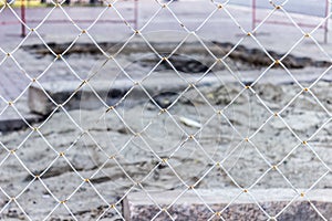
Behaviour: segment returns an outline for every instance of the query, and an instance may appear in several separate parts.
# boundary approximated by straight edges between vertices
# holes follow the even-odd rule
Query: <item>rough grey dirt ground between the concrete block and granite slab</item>
[[[128,190],[143,191],[142,187],[145,191],[184,190],[186,185],[197,189],[331,188],[331,173],[321,178],[332,164],[331,115],[326,113],[332,108],[330,82],[318,82],[305,92],[290,83],[262,81],[246,90],[239,83],[216,81],[186,93],[160,92],[154,102],[147,96],[133,101],[128,95],[110,112],[60,110],[40,123],[38,131],[1,136],[1,143],[15,150],[1,149],[1,160],[6,159],[1,188],[18,196],[17,202],[38,220],[52,211],[55,199],[68,200],[65,206],[79,220],[96,219],[105,210],[103,218],[120,219],[96,191],[121,211],[122,197]],[[168,159],[167,164],[162,159]],[[8,202],[2,194],[1,207]],[[58,206],[51,220],[73,219],[63,204]],[[6,207],[2,218],[27,219],[14,202]]]

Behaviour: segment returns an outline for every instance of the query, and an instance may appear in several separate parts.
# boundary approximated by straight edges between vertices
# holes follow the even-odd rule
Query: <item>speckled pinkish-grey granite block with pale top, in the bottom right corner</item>
[[[198,192],[200,198],[195,193]],[[322,220],[320,214],[311,206],[318,209],[318,211],[328,220],[332,218],[332,190],[331,189],[317,189],[311,190],[310,201],[305,197],[295,194],[292,189],[256,189],[249,192],[242,192],[239,189],[220,189],[220,190],[188,190],[181,197],[181,191],[152,191],[148,192],[149,197],[145,192],[132,192],[127,194],[123,202],[123,210],[125,220],[170,220],[166,211],[162,211],[156,215],[160,209],[151,200],[154,201],[160,208],[167,208],[170,203],[175,203],[167,208],[167,212],[175,220],[269,220],[268,213],[273,220],[282,221],[300,221],[300,220]],[[234,200],[239,193],[236,200]],[[257,203],[260,204],[261,209]],[[294,198],[295,200],[289,204]],[[201,200],[204,199],[204,200]],[[227,207],[229,203],[231,204]],[[210,211],[207,203],[212,211]],[[288,206],[289,204],[289,206]],[[287,207],[288,206],[288,207]],[[218,213],[225,209],[221,213]],[[287,207],[287,208],[286,208]],[[284,209],[286,208],[286,209]],[[284,209],[284,210],[283,210]],[[283,210],[283,211],[282,211]],[[278,213],[282,211],[279,215]],[[220,215],[220,217],[218,217]]]

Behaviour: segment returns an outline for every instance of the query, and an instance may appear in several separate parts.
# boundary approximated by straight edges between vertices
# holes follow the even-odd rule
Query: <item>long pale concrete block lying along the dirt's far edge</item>
[[[204,80],[200,84],[210,84],[209,78]],[[48,82],[42,86],[45,92],[58,104],[64,103],[73,92],[80,86],[81,82]],[[110,81],[98,81],[91,83],[98,96],[107,104],[114,105],[121,99],[133,86],[128,80],[118,80],[114,83]],[[164,78],[148,80],[144,82],[144,88],[151,93],[152,96],[163,92],[183,92],[188,84],[186,82],[174,81],[167,75]],[[128,96],[128,99],[139,99],[145,95],[141,86],[136,85]],[[48,115],[55,105],[49,99],[46,94],[38,85],[32,85],[29,88],[28,97],[29,108],[32,113],[40,115]],[[66,103],[66,109],[96,109],[102,106],[102,102],[94,95],[93,91],[85,85]]]

